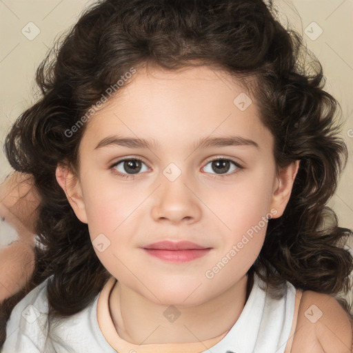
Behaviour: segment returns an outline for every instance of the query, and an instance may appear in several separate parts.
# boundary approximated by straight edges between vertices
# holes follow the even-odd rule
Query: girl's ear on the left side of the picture
[[[57,177],[57,182],[65,192],[77,218],[83,223],[88,223],[79,178],[69,168],[59,164],[55,171],[55,177]]]

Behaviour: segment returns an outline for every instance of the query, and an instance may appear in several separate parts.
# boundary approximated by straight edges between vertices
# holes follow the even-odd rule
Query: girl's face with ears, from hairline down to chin
[[[150,301],[197,305],[230,289],[285,208],[296,171],[276,175],[274,139],[244,93],[207,67],[141,69],[88,122],[68,199],[105,268]],[[160,241],[203,250],[152,250]]]

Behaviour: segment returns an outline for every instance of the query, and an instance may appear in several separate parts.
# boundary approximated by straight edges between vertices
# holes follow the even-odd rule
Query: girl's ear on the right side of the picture
[[[276,177],[270,208],[270,210],[276,210],[276,213],[274,213],[275,216],[272,216],[272,218],[279,218],[282,216],[285,206],[290,200],[294,179],[299,170],[299,162],[300,161],[297,160],[290,163],[287,167],[281,168],[279,175]]]

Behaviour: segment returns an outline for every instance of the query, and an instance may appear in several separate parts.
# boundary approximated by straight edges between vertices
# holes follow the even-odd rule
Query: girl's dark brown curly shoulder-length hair
[[[110,274],[95,254],[88,225],[74,214],[57,183],[57,165],[79,174],[79,143],[87,123],[67,131],[131,68],[179,70],[206,65],[247,82],[260,119],[274,136],[280,168],[300,160],[283,215],[268,221],[265,241],[248,274],[275,290],[295,288],[335,296],[350,290],[353,258],[327,201],[347,163],[334,117],[339,103],[301,35],[285,29],[261,0],[105,0],[94,3],[56,41],[39,65],[41,97],[12,125],[4,145],[14,170],[32,174],[41,203],[35,268],[21,291],[1,305],[0,345],[10,313],[48,279],[49,317],[87,307]],[[313,59],[314,58],[314,59]],[[126,83],[128,84],[128,82]],[[123,89],[123,88],[122,88]],[[112,96],[114,97],[114,96]],[[66,132],[66,133],[65,133]]]

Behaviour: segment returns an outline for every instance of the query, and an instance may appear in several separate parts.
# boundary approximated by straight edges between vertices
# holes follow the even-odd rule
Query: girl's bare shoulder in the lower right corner
[[[292,353],[350,353],[352,326],[333,296],[307,290],[299,305]]]

